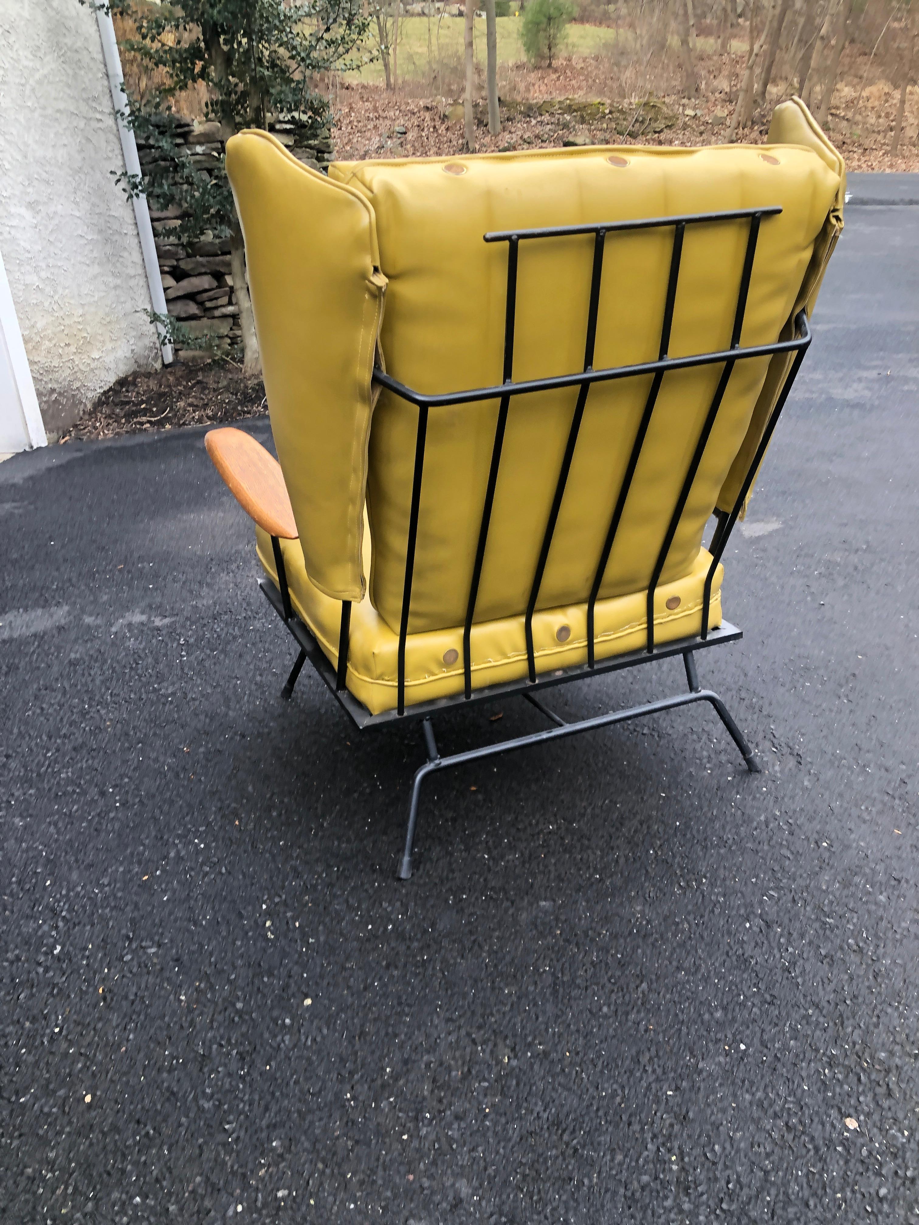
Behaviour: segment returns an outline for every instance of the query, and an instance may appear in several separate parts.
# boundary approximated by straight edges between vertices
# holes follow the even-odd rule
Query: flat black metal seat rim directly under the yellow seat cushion
[[[271,604],[281,620],[284,621],[284,612],[281,604],[281,592],[277,589],[274,583],[272,583],[270,578],[265,577],[259,579],[259,587],[261,588],[268,604]],[[354,697],[349,690],[336,692],[336,670],[309,627],[304,625],[297,612],[294,612],[290,620],[284,624],[290,631],[290,635],[297,644],[306,653],[306,658],[316,669],[320,680],[325,684],[332,697],[359,731],[364,731],[369,728],[384,726],[388,723],[406,723],[412,719],[424,719],[433,714],[440,714],[444,710],[448,710],[455,706],[494,702],[505,697],[513,697],[515,695],[524,691],[533,692],[534,690],[540,688],[554,688],[558,685],[567,685],[572,681],[587,680],[591,676],[598,676],[603,673],[618,673],[626,668],[637,668],[640,664],[648,664],[656,659],[669,659],[674,655],[681,655],[686,650],[702,650],[707,647],[718,647],[728,642],[739,642],[744,637],[743,630],[739,630],[729,621],[722,621],[720,626],[708,631],[708,637],[705,641],[702,638],[694,637],[680,638],[676,642],[660,643],[654,648],[653,655],[649,655],[643,647],[640,647],[637,650],[629,650],[624,652],[621,655],[610,655],[608,659],[602,659],[596,664],[593,670],[591,670],[587,664],[575,664],[571,668],[556,668],[550,673],[540,673],[537,677],[535,685],[531,685],[528,677],[523,676],[517,681],[502,681],[497,685],[488,685],[483,686],[483,688],[473,690],[472,698],[468,702],[464,693],[460,692],[453,693],[450,697],[433,698],[430,702],[417,702],[413,706],[406,707],[406,713],[399,715],[395,709],[381,710],[380,714],[371,714],[364,703]]]

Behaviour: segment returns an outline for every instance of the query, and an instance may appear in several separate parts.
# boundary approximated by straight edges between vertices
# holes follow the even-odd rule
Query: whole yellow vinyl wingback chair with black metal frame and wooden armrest
[[[766,146],[300,164],[227,146],[276,462],[208,451],[262,590],[358,728],[422,719],[433,771],[708,702],[740,638],[720,557],[842,230],[844,167],[799,99]],[[716,516],[708,548],[702,539]],[[539,690],[681,655],[689,690],[565,723]],[[520,693],[544,731],[441,756],[431,717]]]

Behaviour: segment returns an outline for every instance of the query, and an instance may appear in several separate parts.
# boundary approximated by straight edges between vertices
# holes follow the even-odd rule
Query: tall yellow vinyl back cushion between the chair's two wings
[[[373,203],[388,278],[381,344],[395,379],[424,393],[501,382],[507,244],[486,232],[781,206],[762,221],[741,344],[788,328],[841,175],[811,148],[584,148],[343,163],[336,181]],[[730,345],[749,221],[687,225],[670,356]],[[593,366],[659,355],[674,229],[605,240]],[[593,236],[520,244],[513,379],[583,369]],[[770,366],[738,361],[670,546],[662,582],[687,573],[744,442]],[[722,366],[668,372],[600,598],[647,588]],[[651,386],[594,385],[587,397],[537,608],[588,598]],[[511,401],[475,620],[527,606],[577,387]],[[461,625],[491,459],[497,401],[433,408],[424,456],[409,632]],[[368,486],[370,597],[399,624],[418,409],[376,404]]]

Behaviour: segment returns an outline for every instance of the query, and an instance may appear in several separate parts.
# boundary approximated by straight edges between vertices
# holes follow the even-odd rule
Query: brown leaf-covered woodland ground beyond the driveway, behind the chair
[[[515,20],[499,20],[501,135],[489,136],[484,103],[479,104],[478,152],[551,148],[565,141],[691,147],[725,140],[744,70],[743,43],[735,40],[730,54],[718,55],[713,39],[700,38],[700,88],[686,96],[665,75],[642,75],[633,53],[619,47],[615,32],[605,27],[571,27],[570,45],[577,54],[560,59],[551,69],[531,69],[520,58],[502,61],[502,51],[505,56],[513,54],[516,38],[516,33],[501,31],[502,21]],[[419,29],[412,28],[413,22]],[[330,83],[333,142],[341,160],[464,152],[462,72],[457,31],[452,28],[462,27],[462,18],[445,18],[440,54],[435,47],[430,59],[415,45],[426,20],[406,18],[406,24],[409,32],[399,49],[403,75],[398,91],[364,80],[368,70]],[[584,32],[596,37],[587,39]],[[584,54],[588,49],[593,54]],[[890,149],[899,91],[872,69],[870,56],[855,48],[845,51],[823,127],[850,170],[919,170],[919,87],[907,93],[899,149],[893,156]],[[766,105],[739,138],[761,143],[772,109],[793,92],[789,82],[777,77]],[[484,97],[484,86],[482,93]]]

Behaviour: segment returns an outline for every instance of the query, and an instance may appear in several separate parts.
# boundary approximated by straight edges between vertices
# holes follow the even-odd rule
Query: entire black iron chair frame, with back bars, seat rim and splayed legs
[[[415,823],[418,820],[418,804],[420,796],[420,788],[428,774],[435,771],[445,769],[452,766],[462,766],[472,761],[478,761],[485,757],[493,757],[497,753],[512,752],[517,748],[526,748],[532,745],[543,744],[549,740],[558,740],[561,737],[571,736],[581,731],[591,731],[603,726],[610,726],[615,723],[622,723],[626,719],[636,719],[648,714],[656,714],[662,710],[670,710],[675,707],[689,706],[696,702],[709,703],[719,718],[722,719],[724,726],[728,729],[732,739],[740,750],[747,768],[751,772],[757,772],[758,766],[754,756],[752,750],[747,745],[744,735],[738,728],[736,723],[728,712],[724,702],[720,697],[711,690],[703,690],[700,686],[698,676],[696,673],[695,664],[695,652],[701,648],[717,646],[725,642],[736,642],[743,637],[740,630],[735,626],[723,622],[717,628],[709,628],[709,611],[711,611],[711,595],[712,595],[712,582],[718,567],[718,564],[724,554],[724,549],[730,538],[730,533],[734,524],[740,516],[740,512],[746,501],[750,488],[756,478],[756,473],[760,469],[766,450],[772,439],[772,434],[776,429],[778,418],[784,408],[788,394],[792,390],[792,385],[798,374],[801,361],[804,360],[804,354],[810,345],[811,333],[807,326],[807,316],[805,311],[800,311],[793,323],[794,336],[788,341],[776,341],[772,344],[758,344],[747,345],[743,348],[740,345],[740,336],[744,326],[744,315],[746,311],[746,300],[750,289],[750,278],[754,267],[754,258],[756,255],[756,244],[760,234],[760,227],[765,218],[772,217],[779,213],[782,209],[777,206],[763,207],[763,208],[741,208],[732,209],[727,212],[716,213],[686,213],[678,217],[657,217],[642,221],[631,222],[610,222],[599,224],[587,224],[587,225],[565,225],[555,228],[544,229],[528,229],[528,230],[509,230],[504,233],[485,234],[484,240],[486,243],[506,243],[507,244],[507,296],[506,296],[506,310],[505,310],[505,337],[504,337],[504,371],[502,382],[496,386],[490,387],[477,387],[471,391],[461,392],[448,392],[446,394],[428,396],[414,391],[410,387],[404,386],[397,380],[392,379],[390,375],[385,374],[382,370],[374,371],[374,381],[385,387],[387,391],[398,396],[401,399],[409,404],[414,404],[418,408],[418,425],[415,432],[415,456],[414,456],[414,470],[412,479],[412,500],[409,510],[409,526],[408,526],[408,539],[406,548],[406,570],[404,570],[404,582],[403,582],[403,595],[402,595],[402,614],[399,620],[399,637],[398,637],[398,674],[397,674],[397,704],[395,710],[385,710],[380,714],[370,714],[366,707],[358,701],[346,687],[347,666],[348,666],[348,642],[349,642],[349,626],[350,626],[350,601],[344,600],[342,603],[342,616],[339,627],[339,641],[338,641],[338,665],[333,668],[325,652],[320,647],[319,642],[309,630],[309,627],[300,620],[299,616],[293,611],[290,605],[290,595],[287,584],[287,575],[284,571],[284,561],[281,551],[281,544],[277,538],[272,538],[272,548],[274,554],[274,564],[278,576],[278,586],[276,587],[270,579],[263,578],[260,582],[261,589],[271,605],[277,611],[278,616],[284,621],[288,630],[293,635],[294,639],[300,647],[300,653],[294,663],[287,684],[283,688],[283,696],[290,697],[293,693],[294,685],[300,674],[304,663],[309,659],[314,665],[320,677],[328,686],[331,692],[335,695],[336,699],[350,718],[352,723],[359,730],[371,726],[381,726],[393,722],[404,722],[407,719],[420,719],[422,728],[424,731],[425,745],[428,748],[428,761],[419,767],[415,772],[414,780],[412,784],[412,800],[409,805],[409,818],[408,829],[406,835],[406,846],[399,864],[398,876],[402,880],[408,880],[412,875],[412,850],[414,843]],[[676,292],[679,284],[680,273],[680,261],[683,256],[683,245],[686,228],[690,225],[712,225],[723,224],[727,222],[746,221],[747,228],[747,241],[746,251],[744,257],[744,265],[740,274],[740,285],[738,290],[736,307],[734,312],[734,326],[732,330],[730,345],[727,349],[713,350],[709,353],[694,354],[691,356],[670,358],[668,355],[668,349],[670,344],[670,330],[673,326],[673,315],[676,303]],[[593,355],[594,344],[597,338],[597,316],[599,311],[599,296],[600,296],[600,281],[603,276],[603,260],[605,251],[605,240],[610,234],[627,233],[633,230],[643,229],[662,229],[673,228],[673,247],[670,255],[670,268],[667,284],[667,295],[664,300],[663,321],[660,328],[660,344],[658,349],[658,358],[654,361],[643,361],[629,366],[613,366],[600,370],[593,369]],[[591,292],[589,292],[589,304],[588,304],[588,316],[587,316],[587,336],[584,342],[584,360],[583,370],[578,374],[570,375],[556,375],[548,379],[531,379],[520,382],[513,381],[513,332],[515,332],[515,317],[517,306],[517,263],[520,254],[520,244],[523,241],[533,239],[550,239],[550,238],[567,238],[572,235],[593,235],[593,266],[591,274]],[[702,461],[702,456],[711,436],[712,429],[714,426],[716,418],[718,415],[718,409],[720,408],[724,393],[728,387],[734,366],[740,360],[746,360],[750,358],[765,358],[772,356],[774,354],[787,353],[790,355],[790,368],[787,371],[785,381],[782,386],[782,391],[778,396],[776,407],[770,417],[770,420],[763,431],[762,439],[752,456],[750,467],[747,469],[746,477],[741,483],[740,490],[738,492],[736,500],[730,512],[716,511],[717,526],[712,541],[709,544],[709,551],[712,555],[712,562],[708,568],[705,588],[703,588],[703,601],[702,601],[702,626],[701,632],[697,637],[684,638],[678,642],[668,642],[663,644],[656,644],[654,642],[654,592],[657,589],[660,575],[663,572],[664,565],[667,562],[667,556],[673,544],[674,535],[676,533],[678,524],[683,516],[686,506],[686,501],[692,488],[692,483],[698,472],[698,466]],[[645,437],[651,424],[651,418],[654,412],[654,405],[658,401],[660,385],[663,382],[664,375],[671,370],[687,370],[696,366],[703,365],[722,365],[723,370],[718,380],[718,385],[709,404],[708,412],[706,414],[705,421],[702,424],[700,436],[690,461],[689,469],[683,481],[680,494],[676,499],[670,521],[668,523],[667,532],[658,550],[658,555],[652,571],[651,582],[648,584],[647,593],[647,642],[645,648],[641,650],[633,650],[627,654],[616,655],[609,659],[597,660],[596,658],[596,635],[594,635],[594,609],[597,604],[597,598],[599,595],[599,589],[603,582],[603,576],[607,570],[607,564],[609,561],[610,552],[613,550],[613,544],[616,538],[616,532],[622,517],[622,511],[625,508],[626,499],[631,489],[632,478],[641,456],[641,450],[645,442]],[[635,379],[651,375],[651,387],[645,403],[645,409],[638,423],[638,428],[632,442],[632,448],[630,452],[629,462],[626,464],[625,475],[622,484],[620,486],[615,506],[613,508],[609,529],[607,532],[603,549],[598,559],[597,570],[594,572],[593,583],[591,587],[591,593],[587,603],[587,663],[578,664],[572,668],[556,669],[551,673],[544,673],[538,675],[535,670],[535,652],[533,647],[533,614],[537,608],[539,599],[539,589],[543,581],[543,575],[545,571],[545,565],[549,557],[549,550],[551,548],[553,534],[555,532],[555,526],[558,523],[559,512],[561,508],[562,499],[565,496],[565,489],[567,484],[569,473],[571,469],[571,463],[575,454],[575,447],[577,445],[578,431],[581,429],[581,421],[583,419],[584,409],[587,405],[587,397],[591,387],[597,382],[609,382],[619,379]],[[471,633],[475,615],[475,603],[479,590],[479,581],[482,578],[482,567],[485,559],[485,549],[488,544],[489,526],[491,522],[491,510],[494,505],[495,489],[497,485],[497,474],[501,462],[501,451],[504,446],[505,429],[507,424],[507,414],[510,410],[511,399],[517,396],[527,396],[538,391],[546,391],[553,388],[564,387],[577,387],[577,401],[575,403],[575,409],[571,418],[571,425],[569,428],[569,437],[565,446],[565,452],[561,462],[561,468],[556,479],[555,494],[551,502],[551,508],[549,511],[549,517],[543,533],[543,541],[539,550],[539,557],[537,561],[537,568],[533,577],[533,583],[531,587],[529,599],[527,601],[524,630],[526,630],[526,643],[527,643],[527,677],[520,681],[511,681],[501,685],[490,685],[485,688],[473,690],[472,687],[472,657],[471,657]],[[414,703],[406,707],[406,641],[408,638],[408,621],[409,621],[409,608],[412,601],[412,581],[414,575],[414,559],[415,559],[415,545],[418,540],[418,519],[420,514],[422,503],[422,481],[424,475],[424,452],[425,441],[428,432],[428,417],[434,409],[455,407],[461,404],[480,403],[483,401],[499,402],[497,419],[495,424],[495,436],[491,448],[491,462],[489,467],[488,484],[485,489],[485,497],[482,510],[482,519],[479,524],[478,544],[475,549],[475,559],[473,564],[472,583],[469,589],[469,599],[467,603],[466,619],[463,625],[463,676],[464,686],[463,692],[455,695],[452,697],[437,698],[435,701]],[[685,693],[679,693],[674,697],[663,698],[657,702],[647,702],[643,706],[632,707],[626,710],[613,710],[607,714],[597,715],[594,718],[581,719],[575,723],[566,723],[558,714],[548,709],[539,698],[535,697],[535,690],[548,688],[550,686],[562,685],[570,681],[582,680],[587,676],[594,676],[602,673],[619,671],[624,668],[633,668],[642,663],[648,663],[657,659],[667,659],[676,655],[681,655],[685,669],[686,680],[689,685],[689,691]],[[483,745],[478,748],[469,750],[468,752],[453,753],[447,757],[442,757],[437,748],[436,741],[434,739],[434,729],[431,726],[431,718],[451,707],[458,704],[466,704],[469,702],[485,702],[494,701],[499,697],[505,697],[510,695],[520,695],[526,698],[540,710],[554,726],[544,730],[537,731],[526,736],[517,736],[512,740],[504,740],[497,744]]]

